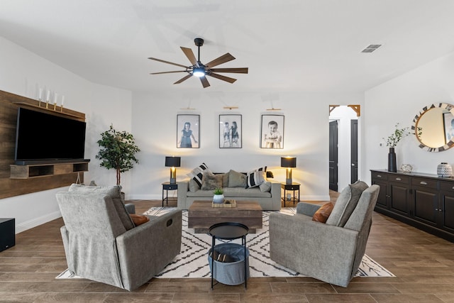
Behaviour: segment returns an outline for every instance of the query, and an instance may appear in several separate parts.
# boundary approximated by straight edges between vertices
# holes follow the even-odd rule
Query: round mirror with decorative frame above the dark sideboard
[[[419,147],[430,152],[448,150],[454,145],[454,107],[447,103],[426,106],[413,119],[411,130]]]

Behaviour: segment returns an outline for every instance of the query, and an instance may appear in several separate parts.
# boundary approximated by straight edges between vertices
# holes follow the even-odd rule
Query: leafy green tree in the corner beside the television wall
[[[109,131],[101,133],[101,140],[98,141],[99,150],[96,159],[101,160],[100,165],[108,170],[116,170],[116,184],[120,185],[121,172],[127,172],[138,163],[135,153],[140,149],[135,145],[134,136],[126,131],[116,131],[111,125]]]

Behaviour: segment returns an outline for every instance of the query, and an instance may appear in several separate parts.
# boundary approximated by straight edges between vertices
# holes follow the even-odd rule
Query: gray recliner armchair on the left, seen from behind
[[[182,211],[135,226],[121,187],[70,187],[58,192],[68,269],[79,277],[134,290],[157,275],[181,250]]]

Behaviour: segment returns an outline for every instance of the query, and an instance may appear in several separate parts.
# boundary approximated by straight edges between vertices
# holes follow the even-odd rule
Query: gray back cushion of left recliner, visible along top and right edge
[[[100,186],[86,186],[81,184],[71,184],[68,192],[87,192],[87,193],[99,193],[107,194],[112,198],[116,212],[120,217],[121,223],[126,228],[130,230],[134,228],[133,221],[128,214],[128,211],[125,208],[125,203],[123,197],[121,196],[121,186],[112,186],[112,187],[100,187]]]

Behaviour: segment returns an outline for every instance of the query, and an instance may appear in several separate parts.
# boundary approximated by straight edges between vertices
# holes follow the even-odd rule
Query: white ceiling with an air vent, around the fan
[[[249,67],[208,77],[224,92],[363,92],[454,51],[453,0],[0,0],[0,35],[92,82],[132,91],[202,90],[179,46],[201,62]],[[382,44],[374,53],[361,53]]]

